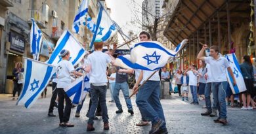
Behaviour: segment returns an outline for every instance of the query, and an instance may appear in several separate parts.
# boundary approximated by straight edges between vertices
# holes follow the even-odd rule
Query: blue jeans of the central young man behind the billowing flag
[[[159,119],[165,122],[163,108],[160,99],[160,81],[148,80],[137,93],[136,103],[143,116],[148,118],[152,124],[156,124]],[[163,125],[165,128],[165,123]]]

